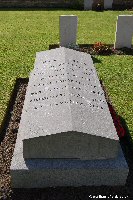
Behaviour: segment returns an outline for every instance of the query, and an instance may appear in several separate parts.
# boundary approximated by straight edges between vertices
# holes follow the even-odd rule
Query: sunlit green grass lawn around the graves
[[[113,44],[118,15],[133,11],[0,11],[0,124],[18,77],[28,77],[36,52],[59,43],[59,16],[78,16],[78,44]],[[133,138],[133,57],[96,56],[99,78]]]

